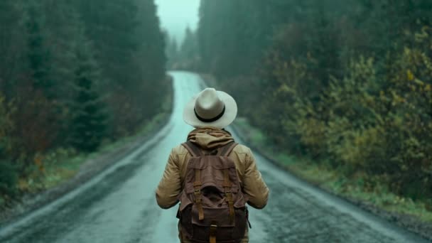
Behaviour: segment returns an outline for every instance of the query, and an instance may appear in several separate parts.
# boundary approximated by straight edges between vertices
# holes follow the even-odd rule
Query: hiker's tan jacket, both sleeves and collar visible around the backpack
[[[227,131],[213,128],[195,129],[188,135],[188,140],[208,151],[234,141]],[[163,177],[156,189],[156,200],[160,207],[168,209],[178,203],[177,197],[183,190],[190,157],[188,150],[181,145],[171,151]],[[229,154],[229,158],[235,163],[243,193],[249,198],[247,203],[257,209],[265,207],[269,198],[269,188],[261,178],[252,151],[247,146],[239,144]]]

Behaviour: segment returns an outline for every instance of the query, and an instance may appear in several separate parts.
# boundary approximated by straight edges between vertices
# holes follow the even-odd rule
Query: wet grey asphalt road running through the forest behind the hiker
[[[175,104],[165,128],[82,187],[0,229],[0,242],[178,242],[176,208],[158,208],[154,190],[171,148],[192,129],[183,123],[183,105],[202,81],[171,74]],[[251,242],[427,242],[255,155],[271,196],[264,210],[251,210]]]

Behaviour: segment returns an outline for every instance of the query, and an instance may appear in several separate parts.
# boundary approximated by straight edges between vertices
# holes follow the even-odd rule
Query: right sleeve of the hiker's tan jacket
[[[252,151],[249,150],[249,153],[247,153],[245,162],[243,191],[249,197],[247,203],[254,208],[262,209],[269,199],[269,188],[258,171]]]

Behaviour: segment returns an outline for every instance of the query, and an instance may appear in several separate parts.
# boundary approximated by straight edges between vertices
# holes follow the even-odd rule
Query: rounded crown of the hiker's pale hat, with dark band
[[[195,114],[202,119],[214,119],[224,110],[225,103],[213,88],[202,90],[195,100]]]

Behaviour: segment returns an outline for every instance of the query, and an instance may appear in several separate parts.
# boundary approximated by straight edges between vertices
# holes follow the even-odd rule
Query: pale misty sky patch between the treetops
[[[155,3],[162,28],[178,41],[183,40],[186,26],[197,28],[200,0],[156,0]]]

